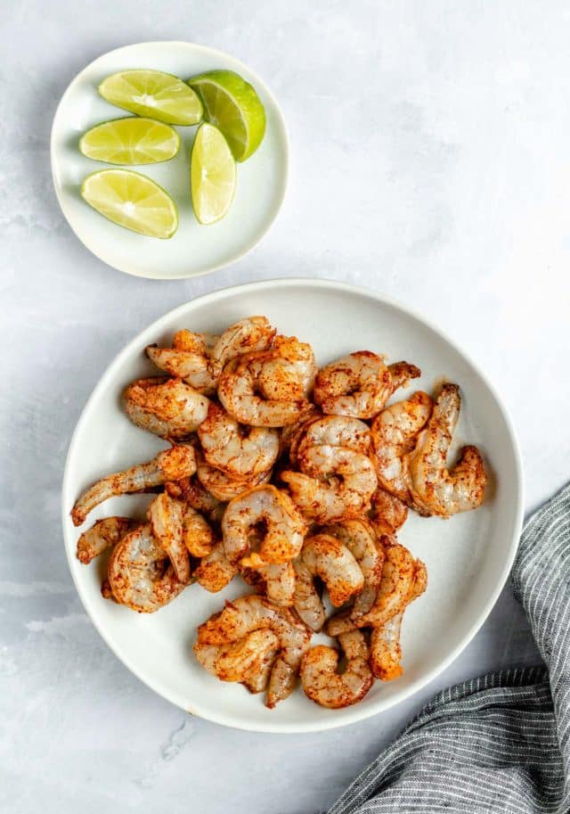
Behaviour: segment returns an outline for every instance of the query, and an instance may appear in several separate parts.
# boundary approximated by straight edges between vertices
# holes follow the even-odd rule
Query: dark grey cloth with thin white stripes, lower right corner
[[[329,814],[570,811],[570,485],[527,522],[512,582],[546,667],[436,695]]]

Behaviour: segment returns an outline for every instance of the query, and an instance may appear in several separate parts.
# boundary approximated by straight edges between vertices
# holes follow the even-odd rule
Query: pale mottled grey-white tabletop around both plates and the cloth
[[[226,730],[110,653],[69,578],[70,433],[110,359],[201,292],[281,275],[368,285],[434,318],[509,405],[530,511],[566,481],[570,11],[564,2],[3,4],[0,83],[0,808],[28,814],[323,810],[436,690],[536,653],[505,588],[460,658],[409,703],[311,736]],[[281,100],[291,185],[224,272],[138,280],[90,256],[49,169],[55,105],[112,47],[185,38],[235,54]]]

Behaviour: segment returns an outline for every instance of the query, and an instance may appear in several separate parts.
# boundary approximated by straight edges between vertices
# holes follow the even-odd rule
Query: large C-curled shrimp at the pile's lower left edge
[[[108,577],[117,602],[138,613],[158,611],[185,588],[149,523],[130,531],[113,548]]]

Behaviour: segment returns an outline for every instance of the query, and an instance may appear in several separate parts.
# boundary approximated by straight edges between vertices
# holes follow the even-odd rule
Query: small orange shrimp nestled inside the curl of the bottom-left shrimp
[[[252,630],[248,636],[229,645],[205,645],[197,641],[194,654],[208,672],[221,681],[239,681],[250,692],[265,690],[273,662],[279,652],[279,638],[270,629]]]

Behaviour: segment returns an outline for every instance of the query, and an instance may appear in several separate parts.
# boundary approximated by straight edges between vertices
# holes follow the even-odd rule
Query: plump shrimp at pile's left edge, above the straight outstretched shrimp
[[[184,440],[208,415],[206,396],[180,379],[138,379],[126,388],[124,398],[131,421],[161,438]]]

